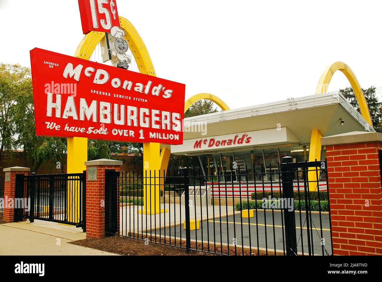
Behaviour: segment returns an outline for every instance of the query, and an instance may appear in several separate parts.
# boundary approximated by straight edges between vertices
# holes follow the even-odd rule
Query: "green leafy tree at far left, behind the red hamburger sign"
[[[42,162],[62,162],[65,138],[36,136],[31,70],[20,65],[0,64],[0,154],[22,149],[25,166],[37,172]]]

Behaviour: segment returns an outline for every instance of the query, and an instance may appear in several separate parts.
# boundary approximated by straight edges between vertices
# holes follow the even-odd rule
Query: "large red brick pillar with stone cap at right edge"
[[[326,145],[335,255],[382,255],[382,133],[350,132]]]

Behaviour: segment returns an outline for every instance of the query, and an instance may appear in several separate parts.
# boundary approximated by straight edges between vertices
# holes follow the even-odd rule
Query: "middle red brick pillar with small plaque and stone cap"
[[[120,160],[91,160],[86,165],[86,238],[105,237],[105,170],[120,171]],[[119,230],[119,191],[118,230]]]

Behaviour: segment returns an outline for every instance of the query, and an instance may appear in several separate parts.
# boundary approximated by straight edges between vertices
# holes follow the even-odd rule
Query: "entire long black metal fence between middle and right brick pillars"
[[[118,173],[106,177],[120,201],[109,234],[227,255],[333,253],[325,161]]]

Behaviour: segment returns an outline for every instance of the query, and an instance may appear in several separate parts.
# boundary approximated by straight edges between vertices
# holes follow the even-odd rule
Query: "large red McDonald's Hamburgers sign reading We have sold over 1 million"
[[[185,84],[35,48],[36,134],[182,144]]]

